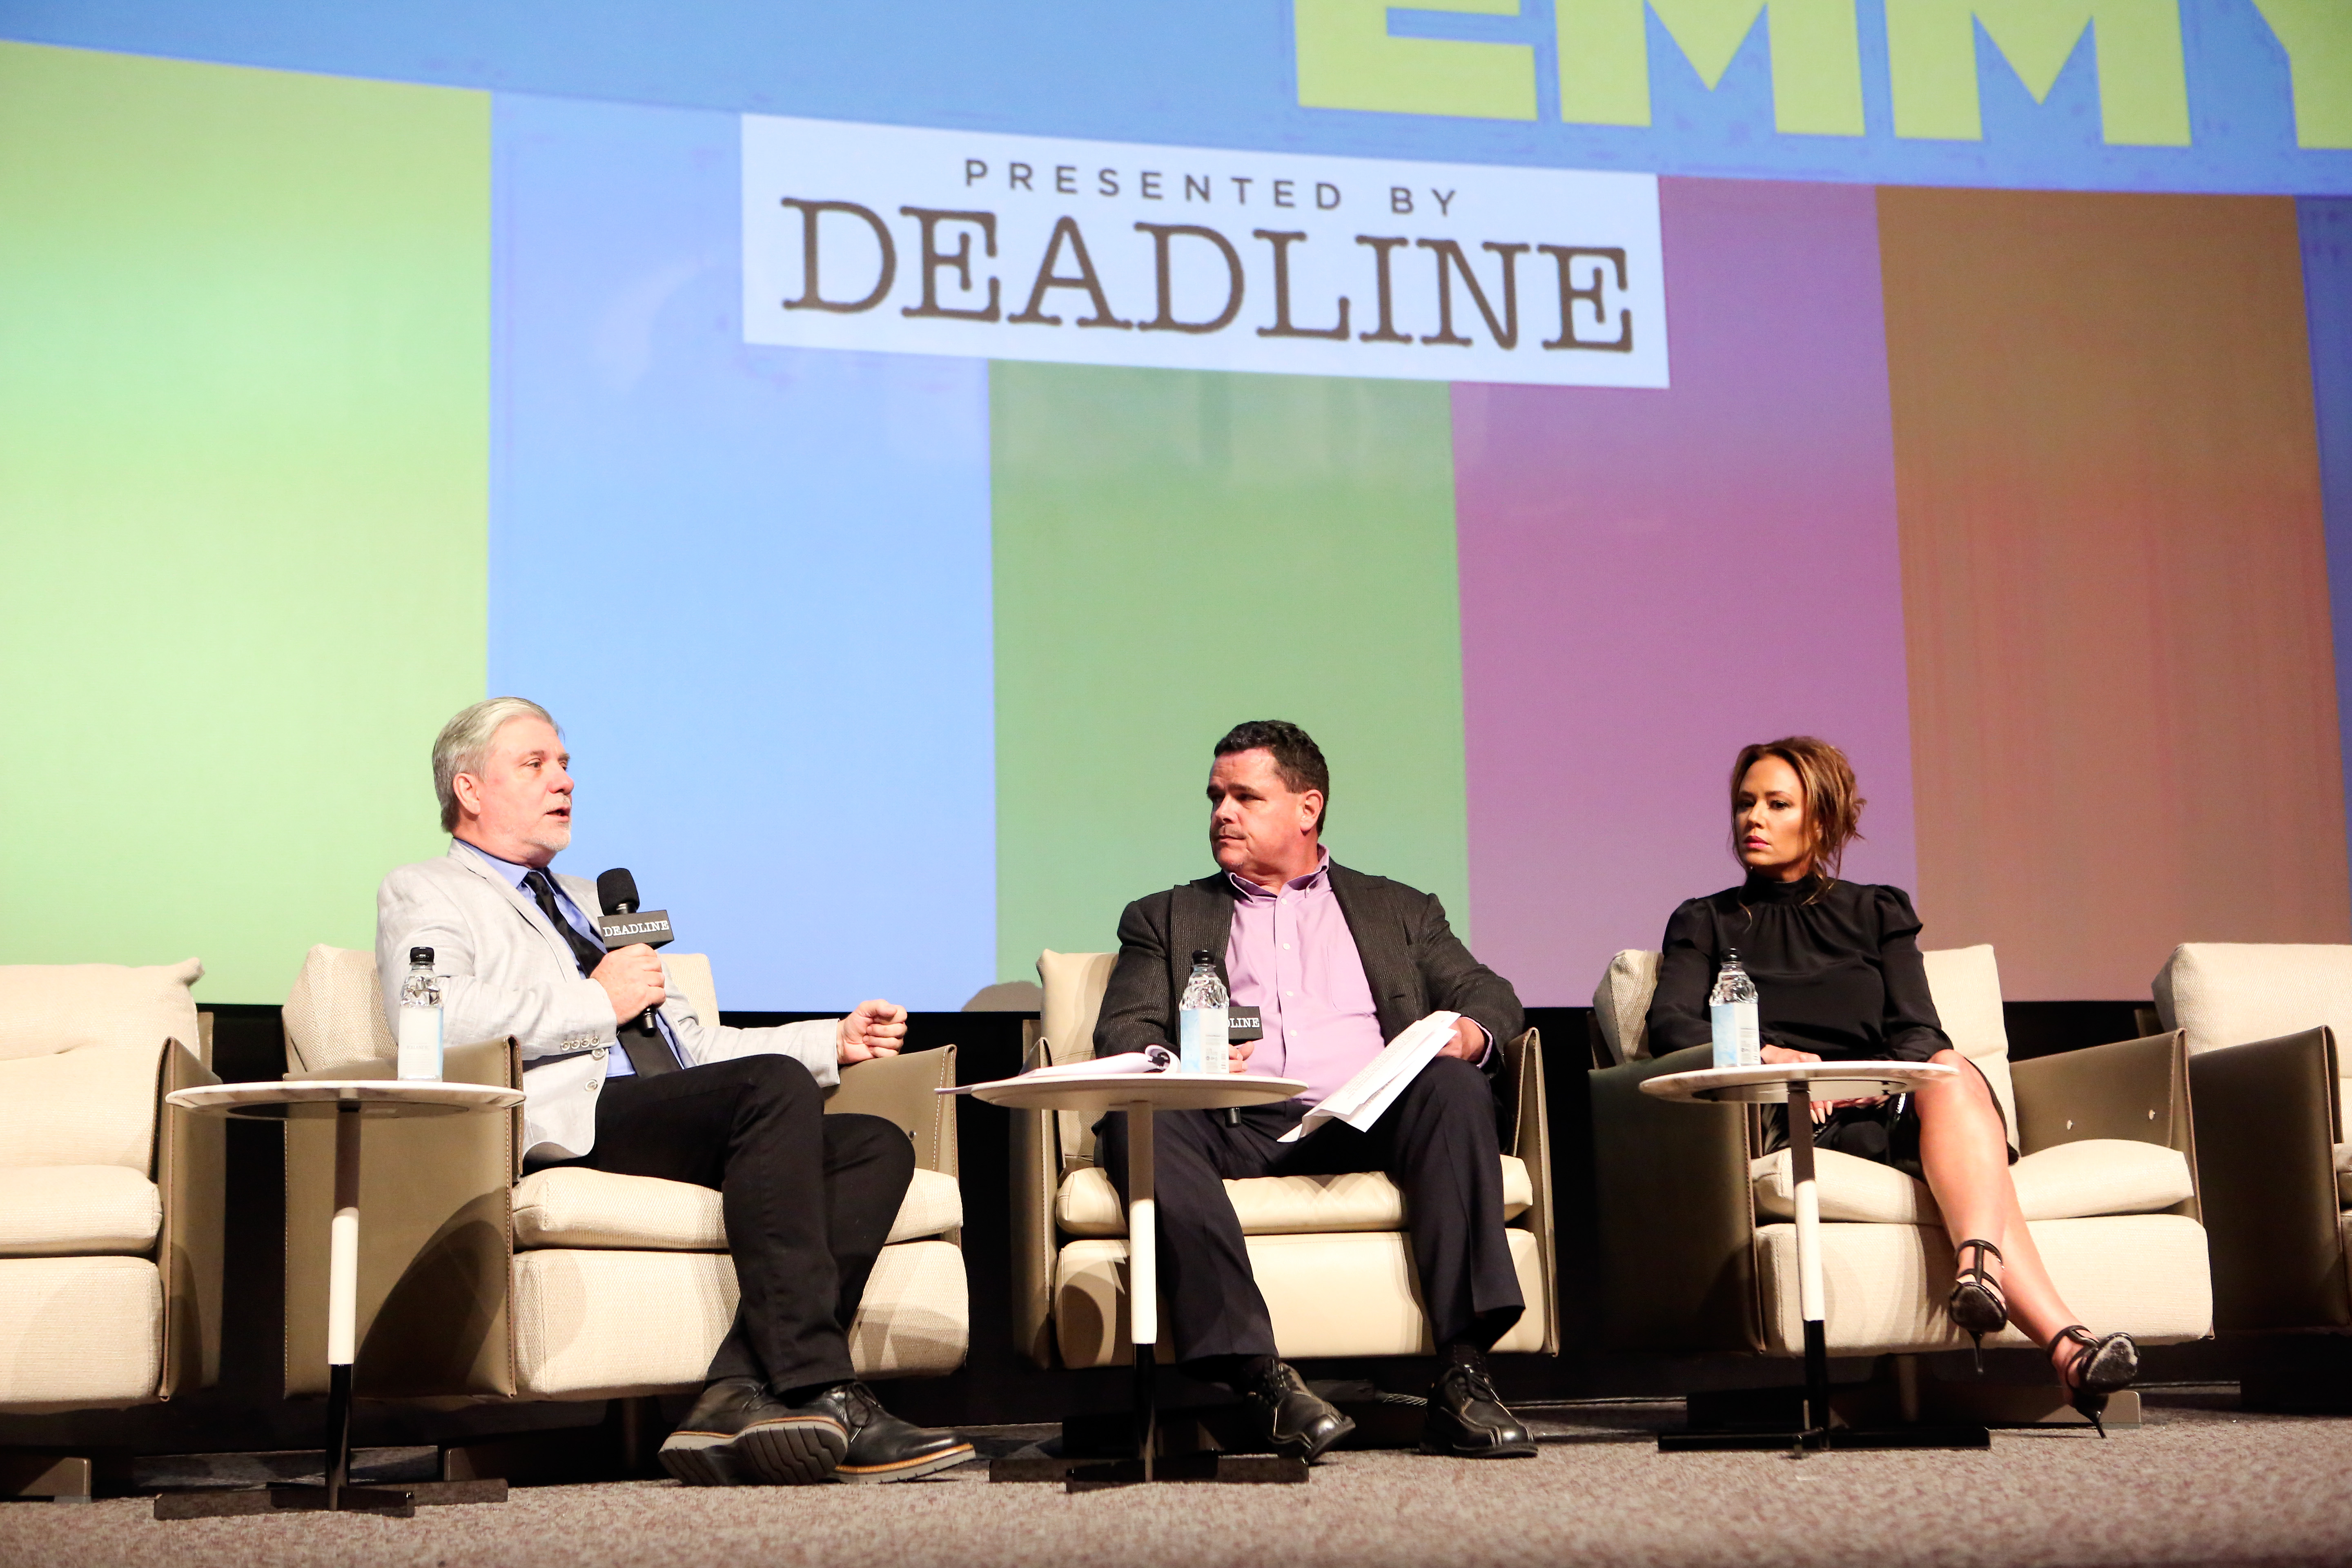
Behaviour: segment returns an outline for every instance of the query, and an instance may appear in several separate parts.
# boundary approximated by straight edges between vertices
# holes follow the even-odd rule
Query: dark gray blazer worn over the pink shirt
[[[1381,1039],[1395,1039],[1435,1011],[1475,1018],[1498,1046],[1519,1034],[1519,994],[1470,957],[1435,896],[1352,872],[1338,860],[1331,863],[1331,893],[1364,959]],[[1120,914],[1120,961],[1094,1025],[1096,1056],[1174,1044],[1176,999],[1192,976],[1197,950],[1216,954],[1218,978],[1232,985],[1225,938],[1232,936],[1235,898],[1232,882],[1218,872],[1127,905]],[[1486,1067],[1501,1060],[1503,1053],[1494,1051]]]

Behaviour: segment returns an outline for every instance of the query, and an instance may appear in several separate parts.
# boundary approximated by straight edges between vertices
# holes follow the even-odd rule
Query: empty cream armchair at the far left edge
[[[202,973],[0,969],[0,1410],[219,1378],[226,1126],[162,1103],[221,1081]]]

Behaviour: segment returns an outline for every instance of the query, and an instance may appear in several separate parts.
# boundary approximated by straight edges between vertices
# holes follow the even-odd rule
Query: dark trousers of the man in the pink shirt
[[[1404,1190],[1421,1302],[1439,1345],[1486,1349],[1519,1321],[1526,1298],[1503,1239],[1503,1171],[1494,1088],[1465,1060],[1439,1056],[1421,1070],[1369,1133],[1327,1121],[1298,1143],[1296,1100],[1225,1112],[1152,1117],[1152,1190],[1160,1201],[1160,1293],[1178,1361],[1272,1356],[1275,1324],[1249,1274],[1228,1180],[1385,1171]],[[1127,1117],[1096,1126],[1096,1164],[1127,1197]]]

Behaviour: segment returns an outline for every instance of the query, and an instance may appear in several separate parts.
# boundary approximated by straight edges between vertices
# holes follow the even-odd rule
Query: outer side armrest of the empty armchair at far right
[[[2213,1326],[2352,1324],[2336,1194],[2336,1032],[2190,1058]]]

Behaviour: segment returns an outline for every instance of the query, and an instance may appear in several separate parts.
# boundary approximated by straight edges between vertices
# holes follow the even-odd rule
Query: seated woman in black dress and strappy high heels
[[[1926,990],[1919,917],[1893,886],[1837,879],[1863,799],[1846,755],[1792,736],[1750,745],[1731,769],[1731,851],[1740,886],[1691,898],[1665,924],[1651,1056],[1715,1039],[1708,994],[1724,957],[1757,985],[1766,1063],[1898,1060],[1959,1067],[1896,1100],[1816,1100],[1813,1143],[1924,1180],[1959,1262],[1952,1321],[1976,1340],[2011,1319],[2049,1347],[2074,1408],[2098,1422],[2140,1366],[2131,1335],[2093,1335],[2058,1298],[2018,1208],[2018,1157],[1992,1086],[1952,1048]],[[1773,1112],[1773,1147],[1788,1143]],[[2105,1434],[2105,1427],[2100,1427]]]

